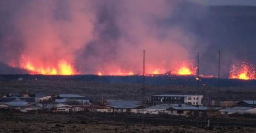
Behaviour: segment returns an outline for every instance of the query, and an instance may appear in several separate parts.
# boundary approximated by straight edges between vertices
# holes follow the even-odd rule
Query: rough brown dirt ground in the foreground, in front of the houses
[[[255,133],[240,126],[156,126],[112,121],[104,114],[0,112],[0,133]]]

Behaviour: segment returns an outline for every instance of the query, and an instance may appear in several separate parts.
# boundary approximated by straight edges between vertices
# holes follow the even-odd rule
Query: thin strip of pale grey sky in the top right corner
[[[256,6],[256,0],[194,0],[206,5],[249,5]]]

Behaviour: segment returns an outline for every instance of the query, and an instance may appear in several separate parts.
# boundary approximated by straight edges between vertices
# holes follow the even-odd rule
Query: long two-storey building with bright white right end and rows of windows
[[[153,95],[151,102],[153,103],[170,103],[170,104],[190,104],[202,105],[203,95]]]

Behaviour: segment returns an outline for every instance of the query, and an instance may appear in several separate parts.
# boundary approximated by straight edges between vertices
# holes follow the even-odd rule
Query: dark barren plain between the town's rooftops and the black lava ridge
[[[122,83],[99,83],[78,80],[7,80],[0,81],[0,94],[4,92],[29,91],[31,93],[73,93],[80,94],[90,99],[123,99],[140,100],[142,85]],[[217,88],[200,87],[200,93],[204,97],[215,99]],[[250,87],[221,88],[222,100],[251,100],[256,99],[256,90]],[[196,94],[197,88],[190,86],[146,85],[146,97],[156,94]]]

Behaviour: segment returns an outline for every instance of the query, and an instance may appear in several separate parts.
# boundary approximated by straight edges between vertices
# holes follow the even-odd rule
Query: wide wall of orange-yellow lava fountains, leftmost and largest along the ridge
[[[58,62],[57,67],[52,66],[37,66],[30,62],[22,65],[22,68],[30,71],[30,74],[43,74],[43,75],[75,75],[79,74],[75,68],[65,60]]]

